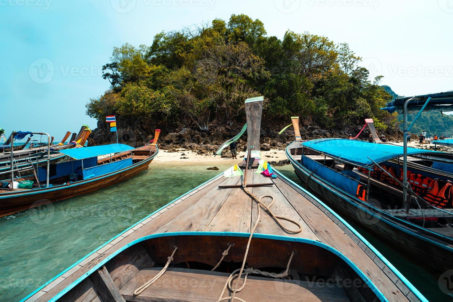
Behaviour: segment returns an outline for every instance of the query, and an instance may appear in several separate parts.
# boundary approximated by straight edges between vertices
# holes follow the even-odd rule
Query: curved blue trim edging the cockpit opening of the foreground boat
[[[115,251],[115,253],[109,255],[107,258],[103,259],[100,263],[96,264],[92,269],[90,269],[87,273],[85,273],[83,276],[72,282],[70,285],[68,285],[63,291],[59,292],[57,295],[52,297],[52,299],[48,300],[49,302],[57,301],[60,297],[62,297],[66,292],[74,288],[77,284],[82,282],[85,278],[87,278],[90,274],[95,272],[98,268],[100,268],[102,265],[106,264],[106,262],[112,258],[114,258],[117,254],[120,254],[122,251],[125,249],[131,247],[134,244],[137,244],[141,241],[144,240],[149,240],[153,239],[156,237],[169,237],[169,236],[193,236],[193,235],[198,235],[198,236],[234,236],[234,237],[249,237],[250,233],[235,233],[235,232],[169,232],[169,233],[158,233],[158,234],[153,234],[149,236],[145,236],[142,238],[139,238],[137,240],[132,241],[129,244],[126,244],[123,246],[121,249],[118,249]],[[323,244],[322,242],[316,241],[316,240],[309,240],[306,238],[292,238],[292,237],[285,237],[285,236],[278,236],[278,235],[267,235],[267,234],[253,234],[253,238],[264,238],[264,239],[271,239],[271,240],[281,240],[281,241],[295,241],[295,242],[301,242],[301,243],[306,243],[306,244],[313,244],[316,246],[319,246],[323,249],[327,249],[333,254],[336,254],[340,259],[344,260],[349,266],[354,269],[354,271],[365,281],[366,285],[368,285],[371,290],[376,294],[376,296],[381,300],[381,301],[388,301],[386,297],[382,294],[382,292],[376,288],[376,285],[371,282],[371,280],[366,277],[365,273],[361,271],[360,268],[357,267],[356,264],[354,264],[349,258],[347,258],[345,255],[343,255],[341,252],[339,252],[337,249],[334,249],[331,246],[328,246],[327,244]]]

